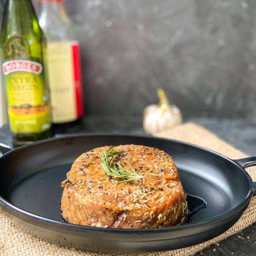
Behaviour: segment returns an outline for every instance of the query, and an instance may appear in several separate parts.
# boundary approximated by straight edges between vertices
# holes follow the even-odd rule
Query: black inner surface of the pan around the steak
[[[20,148],[0,160],[3,186],[0,196],[27,212],[63,222],[62,188],[72,162],[82,152],[111,144],[142,144],[168,152],[174,159],[184,190],[208,204],[192,222],[218,216],[244,201],[250,192],[248,177],[233,162],[200,148],[175,141],[129,136],[61,138]]]

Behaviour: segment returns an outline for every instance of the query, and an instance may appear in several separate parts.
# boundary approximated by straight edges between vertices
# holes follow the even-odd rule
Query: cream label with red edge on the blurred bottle
[[[48,41],[47,61],[52,122],[72,122],[83,115],[78,42]]]

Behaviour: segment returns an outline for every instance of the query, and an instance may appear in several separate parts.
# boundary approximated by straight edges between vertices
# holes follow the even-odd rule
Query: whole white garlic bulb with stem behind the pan
[[[164,90],[158,90],[158,97],[159,105],[149,105],[143,112],[143,129],[152,135],[182,123],[180,109],[169,104]]]

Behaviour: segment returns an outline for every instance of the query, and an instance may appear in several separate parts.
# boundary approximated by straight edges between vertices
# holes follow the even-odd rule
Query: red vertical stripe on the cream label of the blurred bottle
[[[73,44],[73,61],[74,61],[74,80],[76,92],[76,112],[77,118],[82,117],[84,114],[83,92],[82,92],[82,72],[79,44]]]

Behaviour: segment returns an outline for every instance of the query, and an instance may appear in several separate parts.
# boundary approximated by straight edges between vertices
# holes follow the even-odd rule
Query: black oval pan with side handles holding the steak
[[[190,224],[158,229],[79,226],[61,218],[60,182],[82,152],[104,145],[141,144],[174,159],[184,190],[208,206]],[[96,252],[134,253],[182,248],[230,228],[256,194],[244,168],[256,157],[231,160],[184,142],[126,135],[72,135],[10,150],[0,147],[0,208],[14,224],[50,242]],[[193,204],[193,202],[192,202]],[[188,207],[190,207],[190,202]],[[15,238],[14,238],[15,239]]]

